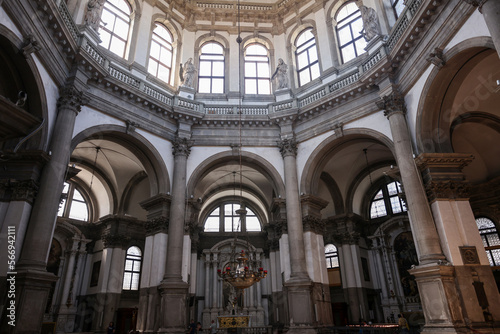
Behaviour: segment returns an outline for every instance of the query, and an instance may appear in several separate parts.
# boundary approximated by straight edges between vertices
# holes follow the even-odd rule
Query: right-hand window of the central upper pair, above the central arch
[[[271,94],[269,55],[258,43],[245,49],[245,94]]]

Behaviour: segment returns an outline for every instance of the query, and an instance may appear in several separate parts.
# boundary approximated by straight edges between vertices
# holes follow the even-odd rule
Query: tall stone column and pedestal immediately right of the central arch
[[[312,282],[306,268],[297,177],[297,142],[294,138],[284,138],[278,141],[278,146],[284,160],[286,220],[291,269],[290,279],[284,284],[288,296],[289,332],[314,333],[315,330],[311,327],[314,321],[311,296]]]

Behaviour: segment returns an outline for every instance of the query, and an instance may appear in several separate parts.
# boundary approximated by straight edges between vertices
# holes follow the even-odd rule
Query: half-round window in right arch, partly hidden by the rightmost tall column
[[[402,194],[401,184],[397,181],[383,185],[370,202],[370,218],[379,218],[407,211]]]

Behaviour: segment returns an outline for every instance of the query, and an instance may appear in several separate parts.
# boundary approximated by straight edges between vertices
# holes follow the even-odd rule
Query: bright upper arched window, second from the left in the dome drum
[[[162,24],[156,23],[151,37],[148,72],[160,80],[170,84],[173,57],[173,38],[170,31]]]

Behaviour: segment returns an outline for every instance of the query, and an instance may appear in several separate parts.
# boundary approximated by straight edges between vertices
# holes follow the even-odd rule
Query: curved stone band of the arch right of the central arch
[[[315,195],[318,189],[318,183],[321,179],[321,173],[328,159],[333,153],[342,146],[353,141],[369,141],[379,143],[387,147],[394,156],[394,144],[384,134],[371,129],[348,129],[344,130],[342,137],[336,135],[326,138],[311,153],[304,166],[302,178],[300,180],[300,192]]]

